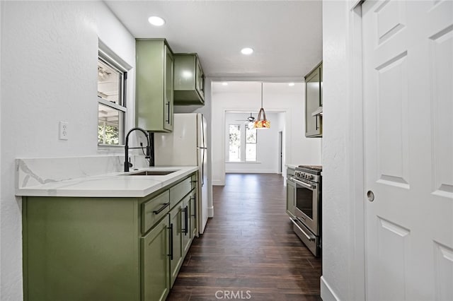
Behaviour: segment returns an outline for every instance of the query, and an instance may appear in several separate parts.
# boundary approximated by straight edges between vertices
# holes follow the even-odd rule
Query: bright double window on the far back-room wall
[[[229,124],[228,129],[228,161],[256,162],[256,129],[243,124]]]

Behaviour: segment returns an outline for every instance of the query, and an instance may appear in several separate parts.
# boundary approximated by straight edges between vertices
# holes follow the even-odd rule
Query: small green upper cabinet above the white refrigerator
[[[205,105],[205,73],[196,53],[178,53],[175,58],[175,105]]]

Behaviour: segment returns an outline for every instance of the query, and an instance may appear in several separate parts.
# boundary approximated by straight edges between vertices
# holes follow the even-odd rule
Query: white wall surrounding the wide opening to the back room
[[[234,88],[232,88],[234,86]],[[253,112],[260,107],[260,83],[236,82],[212,87],[212,184],[225,184],[225,112]],[[304,136],[304,83],[263,84],[266,112],[285,112],[287,164],[321,164],[321,139]],[[258,108],[258,109],[257,109]],[[272,124],[271,124],[272,126]]]

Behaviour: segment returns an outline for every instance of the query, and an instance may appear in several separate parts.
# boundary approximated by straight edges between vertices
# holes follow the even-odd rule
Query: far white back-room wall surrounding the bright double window
[[[257,117],[258,112],[254,112],[253,116]],[[250,112],[231,113],[226,112],[225,115],[225,172],[226,173],[277,173],[278,172],[278,131],[281,131],[279,113],[266,112],[266,117],[270,120],[270,129],[257,130],[257,151],[256,163],[241,162],[231,163],[228,162],[229,152],[229,124],[241,125],[243,138],[245,138],[245,122],[238,122],[236,120],[246,119],[250,116]],[[242,150],[245,154],[245,149]],[[245,158],[243,158],[245,160]]]

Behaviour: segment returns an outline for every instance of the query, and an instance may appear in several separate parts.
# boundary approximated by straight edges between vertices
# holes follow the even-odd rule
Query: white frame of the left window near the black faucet
[[[113,59],[104,52],[102,49],[98,49],[98,64],[99,61],[102,61],[103,64],[106,64],[110,68],[114,69],[121,73],[121,84],[118,91],[118,103],[111,102],[110,100],[106,100],[99,95],[96,95],[98,99],[98,114],[99,114],[99,105],[105,105],[106,107],[110,107],[113,110],[116,110],[118,114],[122,114],[122,122],[118,121],[118,144],[108,144],[108,143],[99,143],[98,139],[98,148],[117,148],[123,147],[125,144],[125,135],[126,135],[126,124],[127,124],[127,67],[123,66],[122,64],[118,63],[117,60]],[[122,104],[122,105],[120,105]],[[98,117],[98,135],[99,135],[99,117]]]

